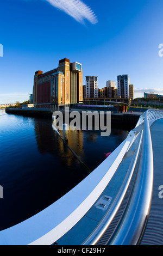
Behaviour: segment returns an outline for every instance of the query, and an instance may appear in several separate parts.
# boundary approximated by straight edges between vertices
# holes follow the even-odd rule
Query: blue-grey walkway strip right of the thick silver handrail
[[[163,119],[151,125],[154,161],[154,182],[151,211],[142,245],[163,245],[163,198],[159,197],[159,187],[163,188]],[[163,190],[162,190],[163,196]]]

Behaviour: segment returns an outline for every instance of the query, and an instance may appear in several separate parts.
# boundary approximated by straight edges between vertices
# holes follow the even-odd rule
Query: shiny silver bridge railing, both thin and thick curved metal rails
[[[153,150],[149,126],[159,118],[163,118],[163,111],[148,110],[139,118],[133,131],[135,131],[135,136],[137,133],[140,133],[140,138],[128,174],[122,183],[114,203],[112,203],[103,220],[83,245],[96,245],[108,229],[120,208],[135,168],[137,168],[137,178],[125,217],[123,216],[118,228],[116,228],[116,231],[111,236],[109,245],[139,244],[148,220],[153,189]],[[137,161],[139,161],[139,164],[136,167]]]

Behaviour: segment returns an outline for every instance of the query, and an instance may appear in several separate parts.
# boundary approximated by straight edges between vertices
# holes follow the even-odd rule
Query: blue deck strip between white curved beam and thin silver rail
[[[135,139],[135,142],[133,143],[129,151],[135,150],[138,140],[139,136]],[[127,170],[130,166],[132,157],[133,156],[131,155],[122,160],[120,166],[116,170],[116,173],[104,189],[101,196],[97,199],[95,204],[92,205],[92,207],[85,214],[85,216],[76,225],[74,225],[71,230],[69,230],[57,241],[58,245],[82,245],[85,239],[87,239],[87,237],[92,233],[92,231],[102,220],[102,218],[106,214],[106,211],[109,210],[127,174]],[[106,205],[104,209],[98,206],[100,202],[104,203],[103,196],[110,197],[110,204],[108,204],[108,206]]]

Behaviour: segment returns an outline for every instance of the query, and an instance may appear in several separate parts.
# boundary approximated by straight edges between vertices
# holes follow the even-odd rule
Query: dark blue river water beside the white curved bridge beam
[[[69,131],[68,144],[93,171],[127,135],[121,127],[112,128],[108,137],[100,131]],[[0,230],[45,209],[87,175],[53,131],[51,119],[0,111]]]

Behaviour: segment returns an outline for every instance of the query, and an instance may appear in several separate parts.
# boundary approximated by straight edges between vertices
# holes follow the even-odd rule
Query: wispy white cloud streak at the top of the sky
[[[88,20],[92,24],[96,24],[96,14],[81,0],[45,0],[49,2],[53,7],[64,11],[70,15],[76,21],[83,23],[84,20]]]

